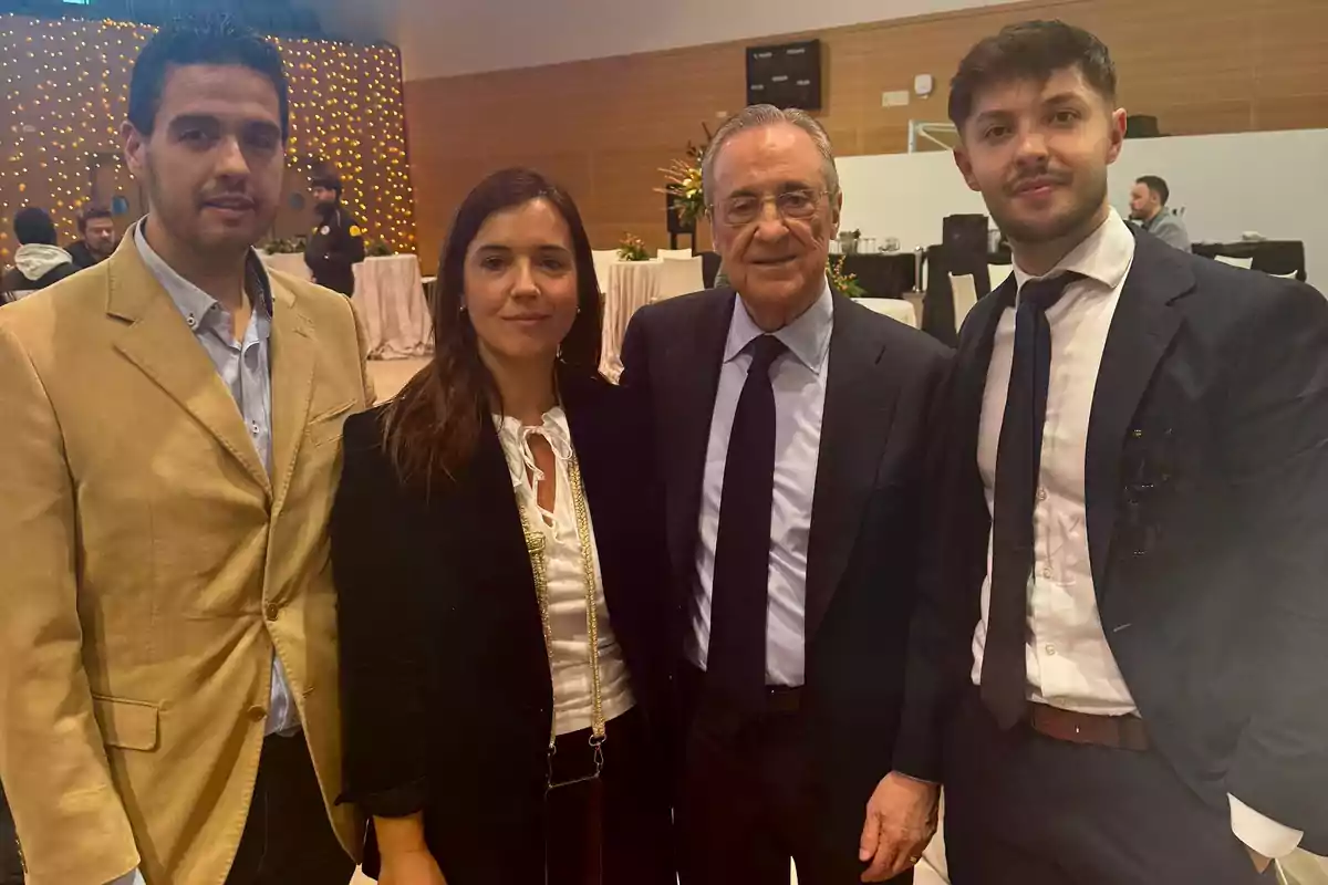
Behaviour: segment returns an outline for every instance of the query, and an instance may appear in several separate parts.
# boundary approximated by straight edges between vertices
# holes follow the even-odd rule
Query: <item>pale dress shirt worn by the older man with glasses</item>
[[[720,368],[701,486],[700,539],[696,551],[696,605],[689,657],[703,670],[710,649],[710,598],[714,548],[720,536],[724,466],[738,397],[752,365],[750,345],[764,332],[734,296],[733,320]],[[770,582],[766,602],[766,685],[801,686],[806,673],[807,540],[811,499],[821,456],[821,415],[834,300],[830,285],[801,317],[774,333],[788,348],[770,366],[774,389],[774,495],[770,506]]]

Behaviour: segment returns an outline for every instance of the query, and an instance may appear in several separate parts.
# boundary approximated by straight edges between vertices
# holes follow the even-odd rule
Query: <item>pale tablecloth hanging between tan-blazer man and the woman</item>
[[[369,338],[371,360],[433,353],[433,320],[416,256],[389,255],[356,264],[352,303]]]

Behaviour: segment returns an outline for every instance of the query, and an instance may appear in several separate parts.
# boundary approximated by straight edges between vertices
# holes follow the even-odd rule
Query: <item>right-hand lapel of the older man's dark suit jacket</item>
[[[899,397],[898,379],[879,365],[884,345],[859,312],[866,313],[866,309],[843,296],[834,296],[821,451],[807,540],[809,644],[830,609],[858,540],[862,511],[875,482]]]

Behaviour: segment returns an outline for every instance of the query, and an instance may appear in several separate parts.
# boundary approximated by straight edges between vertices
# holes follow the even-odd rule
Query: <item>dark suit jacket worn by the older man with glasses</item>
[[[653,415],[673,567],[675,658],[696,569],[705,450],[733,289],[639,310],[623,344],[624,386]],[[823,821],[857,860],[863,809],[892,767],[906,638],[918,580],[928,421],[951,352],[834,296],[834,330],[807,553],[805,722]]]

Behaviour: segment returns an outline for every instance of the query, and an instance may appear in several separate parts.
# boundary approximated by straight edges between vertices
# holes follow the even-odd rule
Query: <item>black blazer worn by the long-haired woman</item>
[[[663,523],[644,434],[622,391],[562,379],[604,593],[639,709],[663,730]],[[332,512],[345,799],[425,812],[449,882],[543,881],[552,683],[517,499],[497,433],[429,496],[381,446],[382,409],[345,425]],[[607,748],[612,754],[612,744]],[[367,868],[376,866],[373,833]]]

